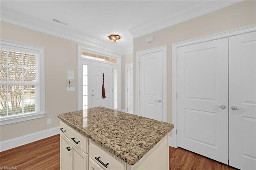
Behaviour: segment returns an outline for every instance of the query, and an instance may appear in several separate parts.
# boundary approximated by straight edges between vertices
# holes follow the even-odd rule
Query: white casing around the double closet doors
[[[196,38],[184,42],[178,42],[172,44],[172,124],[174,128],[172,129],[172,136],[170,137],[170,146],[177,148],[177,51],[178,47],[185,45],[192,45],[196,43],[208,42],[212,40],[217,40],[221,38],[226,38],[230,36],[235,36],[239,34],[244,34],[248,32],[256,31],[256,25],[246,26],[227,32],[222,32],[218,34],[213,34],[210,36],[205,36],[201,38]]]

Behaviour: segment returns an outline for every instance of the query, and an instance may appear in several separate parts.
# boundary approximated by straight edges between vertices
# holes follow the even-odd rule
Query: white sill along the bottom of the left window
[[[19,115],[11,115],[8,117],[0,117],[0,126],[42,118],[44,117],[44,114],[45,113],[25,113]]]

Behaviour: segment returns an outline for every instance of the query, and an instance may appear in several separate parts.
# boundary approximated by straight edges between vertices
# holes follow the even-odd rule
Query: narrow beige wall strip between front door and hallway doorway
[[[133,63],[133,53],[122,55],[121,60],[121,109],[125,109],[125,65]]]

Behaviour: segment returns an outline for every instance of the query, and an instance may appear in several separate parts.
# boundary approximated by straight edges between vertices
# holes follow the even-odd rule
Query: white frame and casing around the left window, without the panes
[[[1,49],[18,49],[18,51],[22,51],[22,52],[38,51],[38,81],[39,81],[38,111],[33,113],[22,113],[17,115],[8,115],[8,116],[0,117],[0,126],[44,117],[44,114],[45,114],[44,48],[35,47],[31,45],[24,45],[21,43],[14,43],[14,42],[9,42],[4,40],[0,40],[0,45],[1,45]]]

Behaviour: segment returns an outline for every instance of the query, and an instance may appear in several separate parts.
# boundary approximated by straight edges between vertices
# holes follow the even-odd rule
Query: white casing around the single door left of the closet
[[[154,53],[162,51],[163,52],[163,96],[162,96],[162,103],[163,103],[163,121],[167,122],[167,46],[156,47],[152,49],[146,49],[143,51],[136,52],[136,89],[135,89],[135,101],[134,101],[134,110],[135,115],[140,115],[140,55]]]

